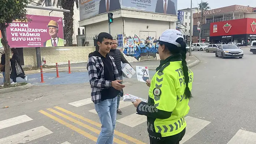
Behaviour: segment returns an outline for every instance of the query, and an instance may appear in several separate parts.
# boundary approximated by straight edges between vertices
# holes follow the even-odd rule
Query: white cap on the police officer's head
[[[162,35],[160,36],[159,40],[155,40],[154,43],[157,43],[159,41],[171,43],[174,45],[177,45],[177,47],[180,47],[180,44],[176,42],[178,38],[183,38],[183,35],[180,31],[174,30],[174,29],[168,29],[165,30]]]

